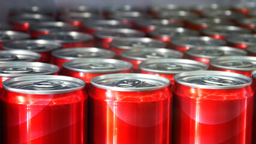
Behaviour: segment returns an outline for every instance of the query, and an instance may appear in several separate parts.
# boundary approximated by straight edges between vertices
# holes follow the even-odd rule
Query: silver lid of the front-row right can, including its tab
[[[225,71],[189,71],[176,74],[174,80],[180,85],[201,89],[238,89],[252,83],[248,76]]]

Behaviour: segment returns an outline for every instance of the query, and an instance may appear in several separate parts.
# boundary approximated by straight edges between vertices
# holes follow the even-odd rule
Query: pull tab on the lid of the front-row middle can
[[[115,83],[115,87],[121,87],[121,88],[136,88],[139,85],[141,85],[141,80],[136,79],[124,79],[120,80],[119,82]]]

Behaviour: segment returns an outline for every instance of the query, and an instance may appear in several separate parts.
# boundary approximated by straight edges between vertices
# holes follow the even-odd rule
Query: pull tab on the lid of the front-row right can
[[[237,85],[237,82],[228,79],[221,79],[218,77],[203,77],[202,82],[209,83],[212,85],[222,85],[222,86],[230,86],[230,85]]]

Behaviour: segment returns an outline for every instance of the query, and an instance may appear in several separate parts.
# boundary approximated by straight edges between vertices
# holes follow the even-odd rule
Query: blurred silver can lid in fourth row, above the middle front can
[[[165,47],[166,43],[152,38],[117,38],[111,41],[109,45],[118,49],[135,49],[146,47]]]

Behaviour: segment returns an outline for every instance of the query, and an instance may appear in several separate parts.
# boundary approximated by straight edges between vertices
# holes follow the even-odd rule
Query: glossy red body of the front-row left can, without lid
[[[88,96],[32,95],[4,90],[1,95],[2,143],[87,143]]]

